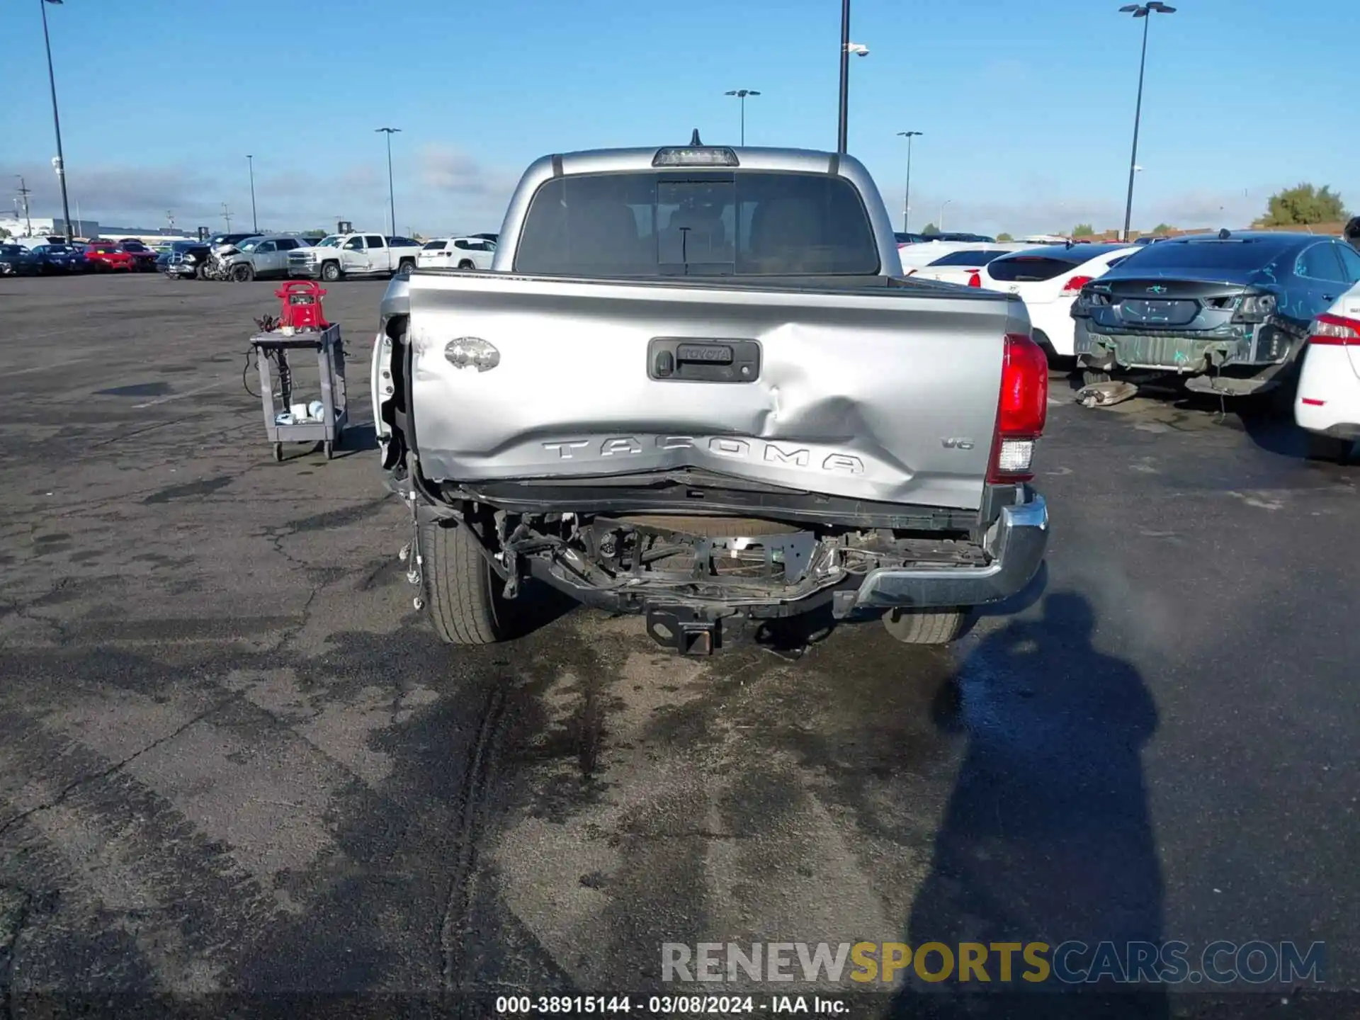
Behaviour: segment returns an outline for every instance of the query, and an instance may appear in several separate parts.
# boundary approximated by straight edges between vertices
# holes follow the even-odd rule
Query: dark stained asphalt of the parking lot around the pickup
[[[325,299],[347,449],[276,464],[241,385],[275,284],[0,282],[12,1015],[645,991],[704,940],[1325,941],[1360,989],[1360,469],[1055,379],[1044,583],[952,650],[681,660],[582,609],[450,650],[364,426],[384,286]]]

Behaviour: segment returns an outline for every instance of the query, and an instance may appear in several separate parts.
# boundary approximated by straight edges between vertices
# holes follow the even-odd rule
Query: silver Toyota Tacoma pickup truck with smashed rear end
[[[812,611],[945,643],[1047,543],[1024,305],[902,277],[846,155],[544,156],[491,272],[392,282],[371,385],[452,643],[510,636],[528,578],[685,654]]]

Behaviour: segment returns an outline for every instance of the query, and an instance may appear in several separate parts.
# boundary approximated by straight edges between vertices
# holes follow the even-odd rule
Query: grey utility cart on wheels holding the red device
[[[284,443],[321,443],[326,460],[330,460],[350,422],[340,326],[303,330],[280,328],[256,333],[250,337],[250,344],[260,366],[264,430],[273,443],[273,458],[283,460]],[[314,351],[317,355],[320,398],[299,404],[294,403],[291,358],[303,351]],[[275,404],[276,392],[279,404]]]

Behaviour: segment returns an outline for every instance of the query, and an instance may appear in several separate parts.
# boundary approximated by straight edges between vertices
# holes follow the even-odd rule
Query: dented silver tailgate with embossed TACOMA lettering
[[[475,481],[692,466],[978,507],[1002,337],[1028,321],[1020,302],[952,291],[416,275],[422,471]],[[481,347],[469,339],[495,348],[494,367],[450,362],[457,340]]]

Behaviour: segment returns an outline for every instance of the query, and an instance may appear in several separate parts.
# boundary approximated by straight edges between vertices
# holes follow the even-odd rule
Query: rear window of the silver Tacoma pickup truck
[[[874,275],[858,192],[828,174],[650,171],[545,182],[515,269],[602,276]]]

